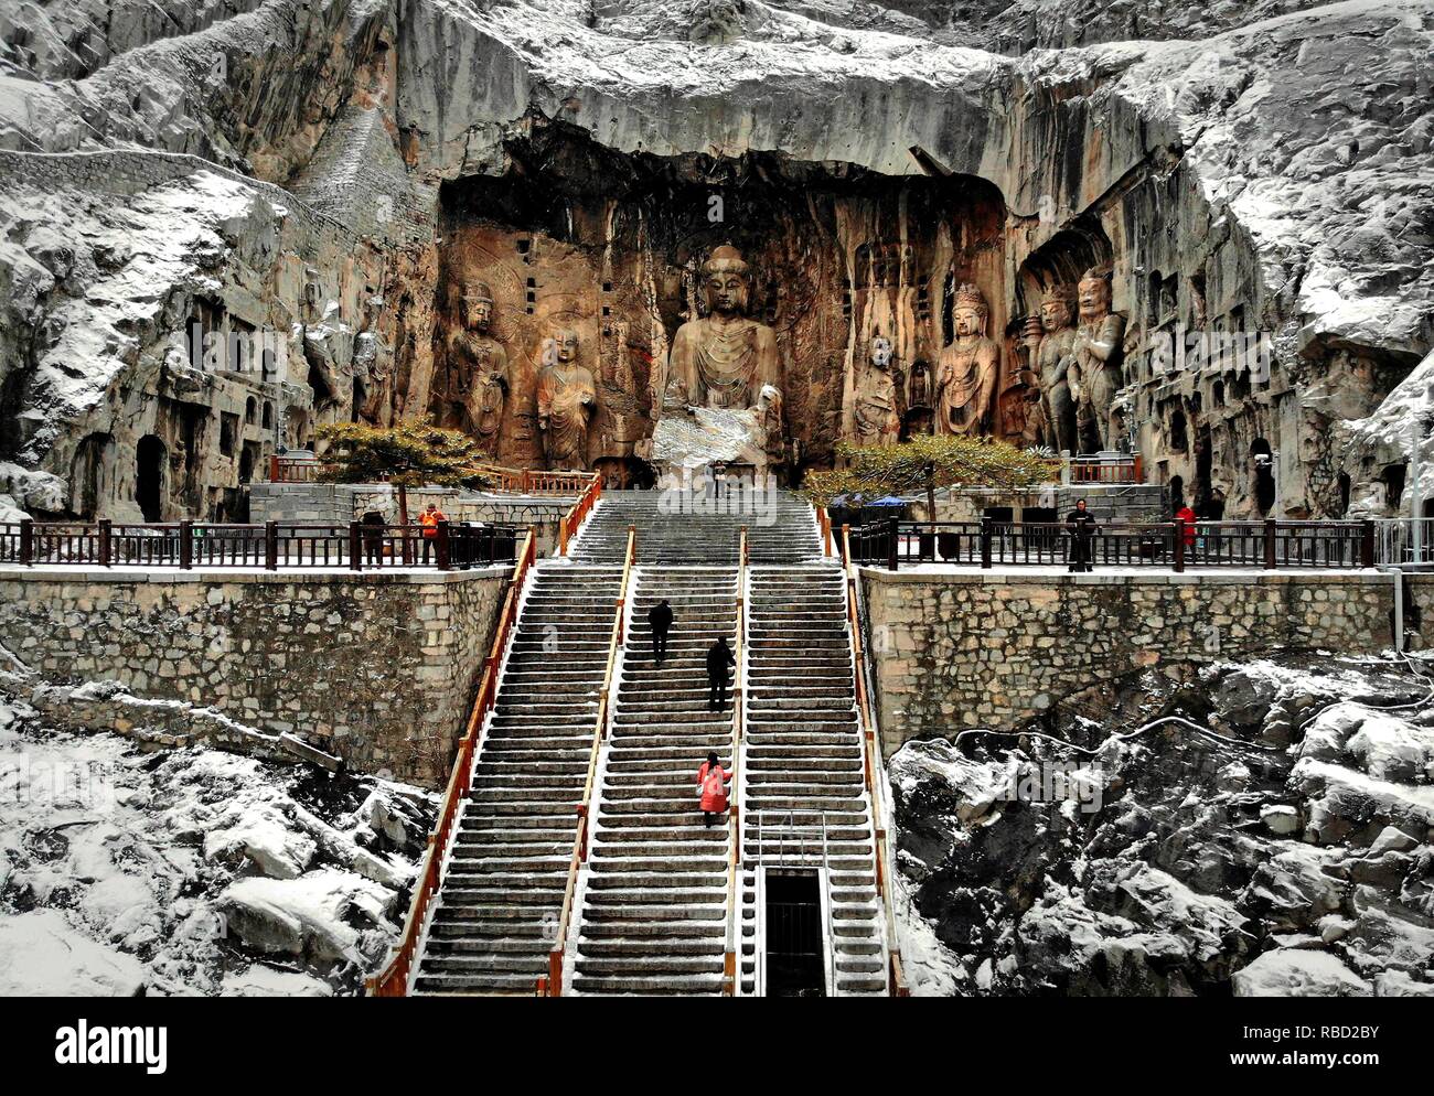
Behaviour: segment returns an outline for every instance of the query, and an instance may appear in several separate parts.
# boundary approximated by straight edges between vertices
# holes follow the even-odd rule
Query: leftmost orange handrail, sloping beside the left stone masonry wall
[[[437,894],[443,857],[453,838],[453,828],[457,824],[459,805],[467,795],[473,779],[473,752],[478,746],[479,731],[483,726],[483,716],[493,706],[498,695],[498,670],[503,662],[503,652],[508,649],[508,638],[512,635],[518,616],[518,600],[522,595],[523,582],[538,559],[538,532],[528,529],[523,537],[522,550],[513,564],[513,576],[508,582],[508,596],[503,599],[503,610],[498,617],[498,630],[493,635],[493,645],[483,660],[483,679],[478,686],[478,698],[467,716],[467,726],[459,739],[457,756],[453,759],[453,771],[449,774],[447,788],[443,791],[443,807],[439,811],[437,822],[429,834],[429,847],[423,857],[423,867],[419,871],[417,885],[413,888],[413,903],[409,905],[409,917],[403,923],[403,936],[389,960],[389,964],[374,977],[367,980],[369,994],[373,997],[403,997],[409,991],[409,974],[417,957],[419,938],[423,934],[423,920],[427,915],[433,895]]]

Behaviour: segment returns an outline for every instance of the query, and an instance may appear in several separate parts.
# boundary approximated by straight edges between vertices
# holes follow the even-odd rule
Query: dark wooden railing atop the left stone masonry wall
[[[0,523],[0,563],[100,567],[470,567],[512,563],[515,526],[452,524],[433,527],[350,521],[307,524],[224,524],[174,521]]]

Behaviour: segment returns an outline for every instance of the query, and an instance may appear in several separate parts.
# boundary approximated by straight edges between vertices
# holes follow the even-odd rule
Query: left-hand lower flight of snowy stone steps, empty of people
[[[532,993],[578,830],[622,572],[541,563],[519,606],[414,993]]]

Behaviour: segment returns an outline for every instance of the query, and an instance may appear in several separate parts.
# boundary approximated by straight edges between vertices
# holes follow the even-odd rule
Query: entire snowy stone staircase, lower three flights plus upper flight
[[[624,606],[630,527],[637,566]],[[533,575],[410,991],[760,993],[760,873],[816,867],[827,991],[886,993],[843,573],[822,559],[810,504],[783,491],[716,501],[605,491],[572,557]],[[647,612],[661,599],[674,622],[657,663]],[[627,639],[566,907],[615,612]],[[746,653],[737,749],[734,696],[721,712],[707,706],[717,636]],[[734,888],[728,817],[707,828],[698,807],[708,752],[740,774]]]

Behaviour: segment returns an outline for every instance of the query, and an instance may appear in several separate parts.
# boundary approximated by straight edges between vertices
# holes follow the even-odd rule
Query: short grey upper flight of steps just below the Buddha
[[[717,499],[685,491],[604,491],[572,559],[621,564],[630,524],[637,526],[638,557],[645,567],[734,567],[743,526],[753,563],[803,563],[822,554],[804,499],[790,491],[726,489]]]

